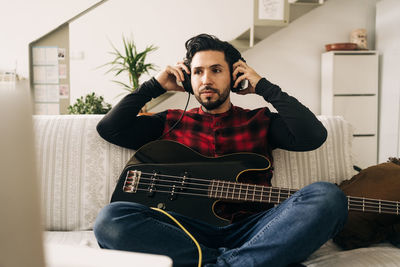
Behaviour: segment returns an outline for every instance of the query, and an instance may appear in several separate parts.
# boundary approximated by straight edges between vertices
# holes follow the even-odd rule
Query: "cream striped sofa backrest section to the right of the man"
[[[340,116],[318,116],[318,119],[328,131],[321,147],[308,152],[273,151],[274,186],[300,189],[317,181],[339,184],[354,175],[352,126]]]

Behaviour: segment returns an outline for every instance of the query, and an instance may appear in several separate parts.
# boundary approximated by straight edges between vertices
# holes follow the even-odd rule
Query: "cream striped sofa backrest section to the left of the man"
[[[104,141],[102,115],[34,116],[46,230],[92,229],[131,150]]]

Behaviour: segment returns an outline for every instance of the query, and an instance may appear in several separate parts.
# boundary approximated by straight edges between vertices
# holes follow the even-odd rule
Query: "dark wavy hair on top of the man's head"
[[[240,52],[230,43],[221,41],[217,37],[209,34],[199,34],[186,41],[186,58],[185,64],[190,67],[192,59],[197,52],[214,50],[221,51],[225,54],[225,60],[229,65],[229,70],[232,73],[232,65],[242,58]]]

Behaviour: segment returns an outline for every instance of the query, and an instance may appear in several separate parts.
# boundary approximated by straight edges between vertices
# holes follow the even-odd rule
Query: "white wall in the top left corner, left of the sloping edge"
[[[0,0],[0,70],[28,77],[28,45],[99,0]]]

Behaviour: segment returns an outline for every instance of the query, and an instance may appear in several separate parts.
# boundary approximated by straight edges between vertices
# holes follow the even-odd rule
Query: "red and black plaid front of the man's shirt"
[[[202,155],[216,157],[235,152],[253,152],[271,159],[267,134],[270,118],[266,108],[232,108],[222,114],[209,114],[201,108],[185,113],[182,121],[164,139],[184,144]],[[182,115],[182,110],[168,110],[164,133]]]

